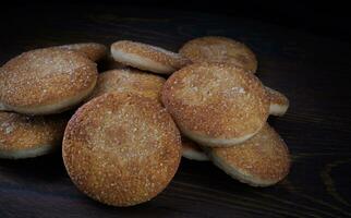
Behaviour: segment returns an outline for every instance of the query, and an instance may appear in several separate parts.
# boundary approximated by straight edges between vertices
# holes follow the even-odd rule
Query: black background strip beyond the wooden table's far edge
[[[11,24],[11,17],[23,16],[24,20],[37,17],[43,21],[40,14],[33,14],[34,8],[57,8],[62,16],[65,10],[72,5],[82,4],[107,4],[111,8],[135,7],[135,12],[157,8],[159,10],[179,10],[206,12],[211,14],[223,14],[234,17],[258,20],[265,23],[277,24],[292,29],[304,31],[314,35],[332,37],[336,40],[351,40],[351,13],[348,1],[254,1],[254,0],[179,0],[179,1],[155,1],[155,0],[75,0],[75,1],[10,1],[9,7],[2,5],[0,24]],[[4,3],[3,3],[4,4]],[[84,13],[77,11],[77,13]],[[15,28],[15,27],[13,27]],[[19,28],[19,26],[16,26]]]

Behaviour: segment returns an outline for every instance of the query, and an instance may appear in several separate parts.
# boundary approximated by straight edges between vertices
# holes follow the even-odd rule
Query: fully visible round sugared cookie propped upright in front
[[[75,112],[65,129],[62,155],[70,178],[86,195],[132,206],[169,184],[180,164],[181,140],[160,104],[112,93]]]

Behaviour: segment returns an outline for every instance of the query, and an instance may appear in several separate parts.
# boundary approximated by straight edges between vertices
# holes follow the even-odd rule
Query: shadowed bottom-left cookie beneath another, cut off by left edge
[[[0,158],[31,158],[58,149],[68,120],[64,116],[0,112]]]

